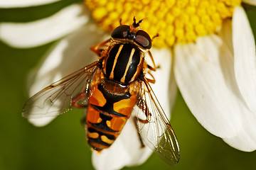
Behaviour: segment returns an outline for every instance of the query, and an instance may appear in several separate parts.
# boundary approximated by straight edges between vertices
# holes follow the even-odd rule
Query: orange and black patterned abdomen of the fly
[[[132,113],[137,97],[129,92],[116,94],[105,86],[95,84],[87,108],[87,141],[100,151],[110,147],[117,139]]]

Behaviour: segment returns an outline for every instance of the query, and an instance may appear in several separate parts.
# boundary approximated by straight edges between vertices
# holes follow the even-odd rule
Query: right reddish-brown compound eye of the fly
[[[144,30],[137,31],[137,35],[134,41],[137,42],[138,45],[141,45],[146,49],[151,48],[151,38],[149,37],[149,34],[146,33]]]

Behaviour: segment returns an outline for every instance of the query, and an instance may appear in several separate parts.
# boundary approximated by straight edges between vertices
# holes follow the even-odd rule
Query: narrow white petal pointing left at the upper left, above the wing
[[[67,35],[88,21],[83,4],[68,6],[30,23],[0,23],[0,40],[13,47],[36,47]]]

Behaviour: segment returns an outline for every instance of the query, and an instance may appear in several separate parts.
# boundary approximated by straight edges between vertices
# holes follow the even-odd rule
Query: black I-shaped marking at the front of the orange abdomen
[[[129,99],[131,97],[131,94],[129,92],[124,92],[122,94],[114,94],[111,93],[110,91],[107,91],[107,89],[104,88],[102,84],[98,84],[97,88],[102,92],[103,96],[106,99],[106,103],[104,106],[96,106],[92,105],[91,106],[98,111],[106,112],[112,115],[117,115],[119,117],[127,117],[127,115],[123,115],[121,113],[117,113],[114,111],[114,103],[117,103],[117,101],[122,101],[123,99]]]

